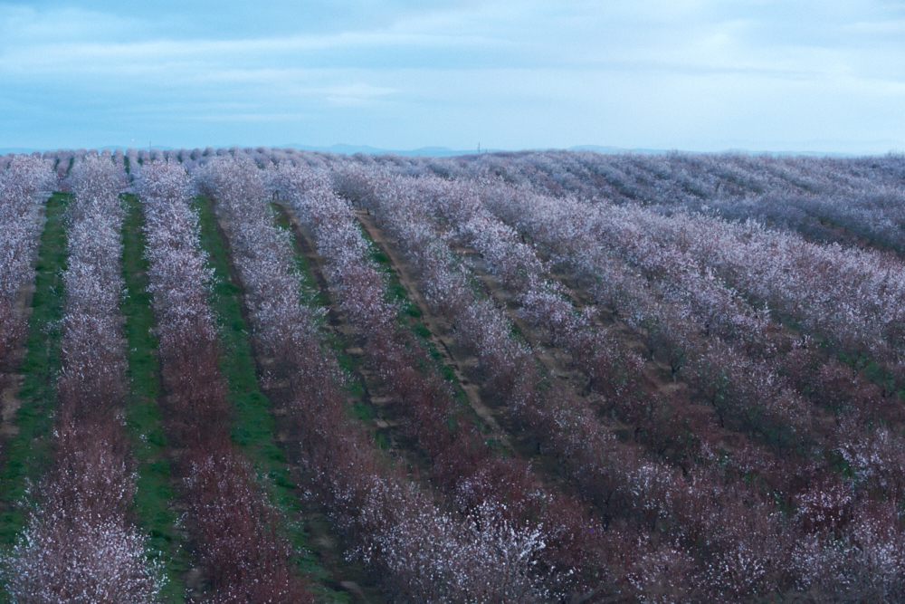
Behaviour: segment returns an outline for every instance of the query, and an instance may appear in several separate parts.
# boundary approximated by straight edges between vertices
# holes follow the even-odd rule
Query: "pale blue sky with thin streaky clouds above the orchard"
[[[905,0],[0,0],[0,149],[905,150]]]

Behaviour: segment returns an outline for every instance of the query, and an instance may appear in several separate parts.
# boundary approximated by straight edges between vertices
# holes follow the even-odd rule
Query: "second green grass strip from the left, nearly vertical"
[[[170,505],[176,493],[170,480],[163,416],[157,405],[161,392],[160,367],[155,354],[157,339],[151,332],[154,312],[148,292],[143,219],[138,197],[125,195],[122,198],[126,207],[122,225],[122,276],[126,282],[126,295],[120,308],[126,317],[129,360],[126,427],[138,462],[135,512],[139,530],[148,535],[148,557],[162,561],[167,577],[160,599],[181,603],[186,597],[186,586],[181,578],[188,569],[188,559],[184,543],[176,532],[178,515]]]

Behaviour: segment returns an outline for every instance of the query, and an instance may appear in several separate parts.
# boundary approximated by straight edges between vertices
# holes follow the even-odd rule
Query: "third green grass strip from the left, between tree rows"
[[[291,479],[286,455],[274,441],[276,426],[270,412],[271,402],[258,386],[252,343],[242,313],[242,289],[233,283],[226,244],[217,231],[211,200],[195,197],[194,207],[200,217],[201,246],[208,254],[208,265],[214,269],[209,302],[220,329],[220,370],[229,385],[233,407],[233,443],[258,472],[266,476],[271,502],[291,519],[301,511],[300,501],[291,493],[296,485]],[[324,586],[329,574],[307,552],[307,533],[301,523],[287,523],[285,531],[296,551],[305,551],[300,554],[297,563],[300,570],[319,585],[322,598],[328,601],[347,599],[346,594]]]

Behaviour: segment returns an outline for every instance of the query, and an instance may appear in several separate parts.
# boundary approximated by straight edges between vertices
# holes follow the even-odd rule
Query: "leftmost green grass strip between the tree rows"
[[[26,352],[20,371],[25,379],[19,398],[22,407],[15,422],[19,433],[4,443],[0,469],[0,545],[8,550],[24,529],[19,506],[29,482],[34,482],[50,463],[52,411],[56,401],[55,376],[60,369],[60,338],[65,296],[62,273],[66,268],[64,216],[71,195],[54,193],[47,200],[47,221],[38,248],[35,292],[28,320]],[[0,589],[0,601],[8,594]]]

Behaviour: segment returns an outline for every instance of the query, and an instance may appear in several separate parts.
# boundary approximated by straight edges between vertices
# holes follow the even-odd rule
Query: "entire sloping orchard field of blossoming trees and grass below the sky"
[[[894,156],[0,158],[3,599],[899,601],[901,254]]]

